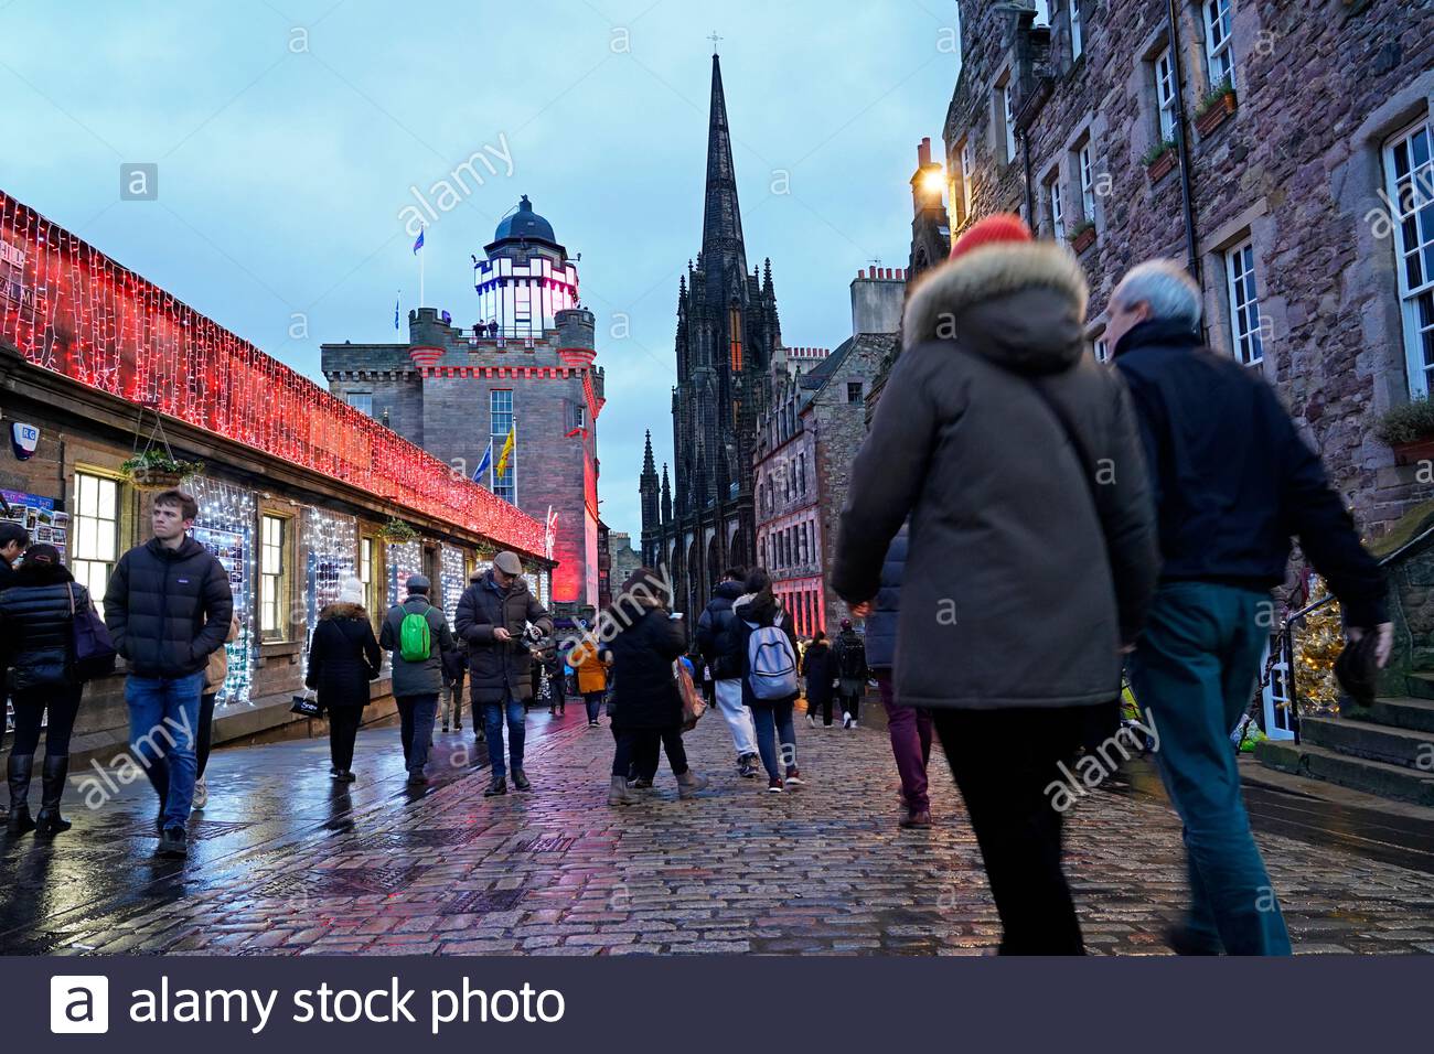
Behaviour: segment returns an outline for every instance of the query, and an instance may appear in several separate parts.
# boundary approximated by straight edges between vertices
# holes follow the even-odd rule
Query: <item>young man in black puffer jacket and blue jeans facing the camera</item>
[[[198,515],[182,490],[156,495],[155,536],[119,558],[105,588],[105,624],[129,664],[129,746],[159,794],[161,856],[188,853],[205,665],[234,614],[228,572],[186,533]]]

